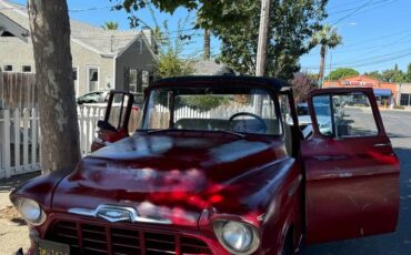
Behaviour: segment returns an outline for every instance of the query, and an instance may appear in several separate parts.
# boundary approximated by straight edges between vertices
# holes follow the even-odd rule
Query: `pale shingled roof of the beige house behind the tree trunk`
[[[0,0],[0,13],[30,30],[29,16],[24,6]],[[104,30],[76,20],[70,20],[70,27],[72,41],[103,55],[121,54],[132,41],[140,37],[150,45],[144,33],[138,30]]]

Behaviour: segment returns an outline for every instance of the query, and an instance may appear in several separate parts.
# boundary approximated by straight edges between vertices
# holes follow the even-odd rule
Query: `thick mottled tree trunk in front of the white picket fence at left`
[[[42,172],[74,169],[80,155],[66,0],[29,0],[39,90]]]

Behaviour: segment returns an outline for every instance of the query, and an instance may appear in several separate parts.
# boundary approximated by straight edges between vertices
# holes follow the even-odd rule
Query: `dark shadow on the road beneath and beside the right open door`
[[[411,150],[394,149],[401,159],[401,201],[398,231],[392,234],[303,247],[299,255],[407,255],[411,254]]]

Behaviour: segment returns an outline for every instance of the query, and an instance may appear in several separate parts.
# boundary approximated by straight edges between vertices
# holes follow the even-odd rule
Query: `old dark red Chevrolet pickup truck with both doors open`
[[[277,79],[160,80],[131,136],[132,95],[114,95],[101,149],[11,193],[29,254],[290,255],[395,231],[399,160],[371,89],[312,92],[303,132]]]

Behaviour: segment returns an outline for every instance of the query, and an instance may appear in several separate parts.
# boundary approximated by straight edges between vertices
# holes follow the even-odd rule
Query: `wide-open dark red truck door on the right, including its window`
[[[313,134],[301,144],[307,242],[395,231],[400,166],[372,89],[317,90],[309,109]]]

